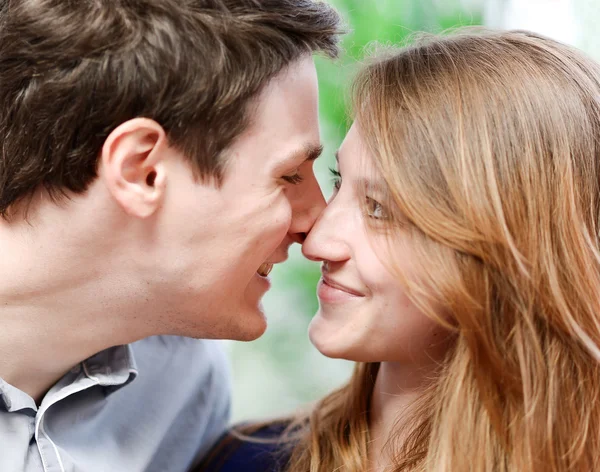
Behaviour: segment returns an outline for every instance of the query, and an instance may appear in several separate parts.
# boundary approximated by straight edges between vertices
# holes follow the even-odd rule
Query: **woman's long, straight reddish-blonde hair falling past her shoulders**
[[[599,66],[529,32],[463,31],[380,54],[353,92],[391,229],[414,237],[408,294],[456,331],[389,470],[600,469]],[[289,472],[368,470],[377,369],[294,423]]]

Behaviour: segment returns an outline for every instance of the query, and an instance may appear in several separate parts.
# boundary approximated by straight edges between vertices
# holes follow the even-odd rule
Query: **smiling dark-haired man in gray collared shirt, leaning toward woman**
[[[182,471],[221,432],[191,338],[265,330],[338,34],[312,0],[0,2],[0,470]]]

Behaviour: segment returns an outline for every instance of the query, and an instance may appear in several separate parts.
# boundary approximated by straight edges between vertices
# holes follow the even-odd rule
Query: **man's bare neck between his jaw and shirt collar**
[[[40,402],[79,362],[144,333],[129,316],[134,277],[116,280],[104,248],[86,250],[64,227],[37,229],[0,223],[0,377]]]

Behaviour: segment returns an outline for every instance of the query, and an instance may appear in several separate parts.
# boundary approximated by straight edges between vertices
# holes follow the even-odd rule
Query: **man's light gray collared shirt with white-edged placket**
[[[183,472],[229,419],[218,341],[156,336],[68,372],[36,406],[0,379],[1,472]]]

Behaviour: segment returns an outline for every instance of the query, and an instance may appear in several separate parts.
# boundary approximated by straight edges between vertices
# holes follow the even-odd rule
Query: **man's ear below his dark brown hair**
[[[164,129],[147,118],[126,121],[106,138],[100,175],[128,214],[147,218],[159,208],[165,194],[167,149]]]

